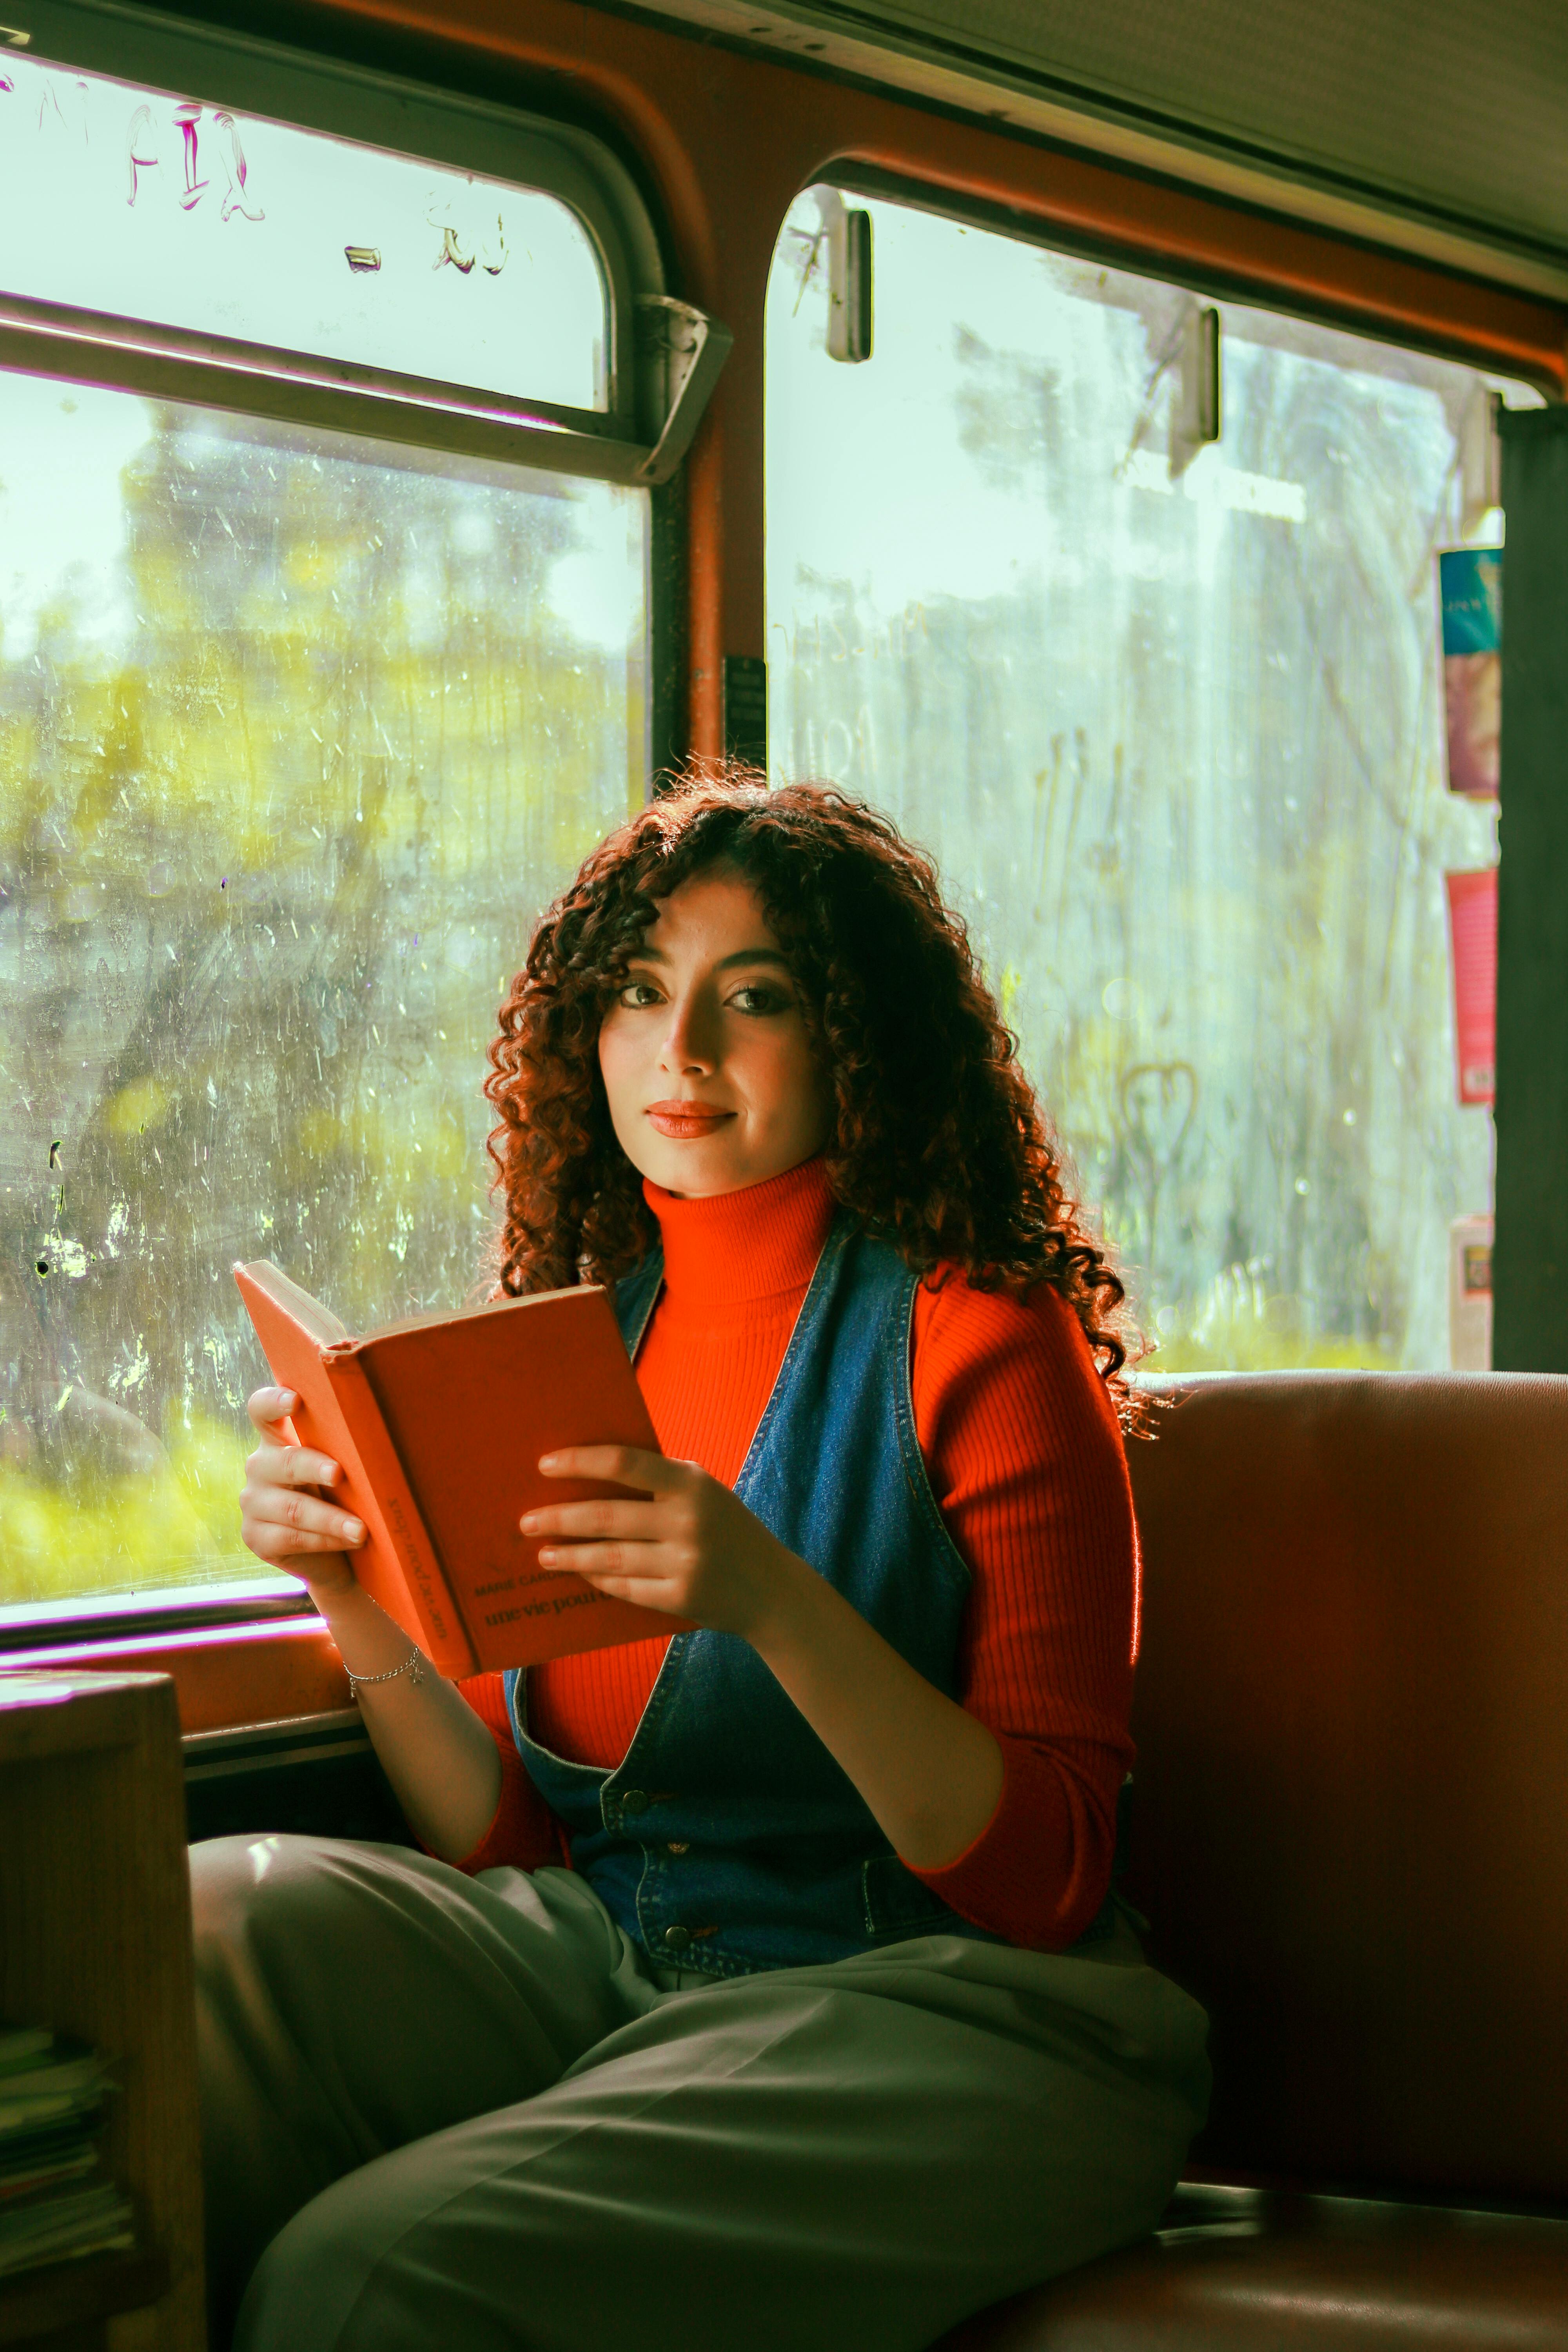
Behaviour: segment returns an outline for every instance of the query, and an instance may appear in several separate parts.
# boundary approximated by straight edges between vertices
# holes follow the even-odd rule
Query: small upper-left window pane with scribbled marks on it
[[[576,409],[607,289],[555,195],[0,49],[9,294]]]

